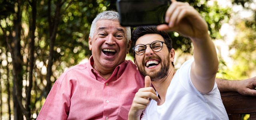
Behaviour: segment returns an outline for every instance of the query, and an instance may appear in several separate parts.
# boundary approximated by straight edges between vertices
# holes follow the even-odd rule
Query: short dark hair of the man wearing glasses
[[[156,26],[138,26],[133,32],[132,32],[132,48],[136,45],[136,41],[139,37],[146,35],[146,34],[159,34],[164,38],[164,42],[168,46],[168,51],[170,53],[172,49],[172,39],[168,35],[166,31],[159,31],[156,29]],[[133,57],[135,58],[135,53],[133,51]],[[174,66],[173,62],[172,65]]]

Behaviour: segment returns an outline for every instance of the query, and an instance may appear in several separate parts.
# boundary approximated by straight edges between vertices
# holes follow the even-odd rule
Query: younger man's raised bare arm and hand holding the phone
[[[194,63],[190,74],[192,83],[200,92],[210,92],[218,71],[218,58],[206,22],[188,3],[174,0],[166,12],[166,22],[169,24],[158,26],[158,30],[177,31],[192,40],[194,45]]]

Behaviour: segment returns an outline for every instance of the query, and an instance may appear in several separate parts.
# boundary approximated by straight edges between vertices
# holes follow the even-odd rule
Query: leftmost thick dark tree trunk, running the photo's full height
[[[13,47],[12,55],[12,73],[13,73],[13,103],[14,103],[14,120],[23,120],[23,114],[26,114],[26,109],[22,105],[22,55],[20,53],[20,32],[21,32],[21,12],[20,1],[18,1],[18,10],[14,14],[14,39],[12,39]],[[29,111],[30,112],[30,111]],[[22,114],[23,113],[23,114]]]

